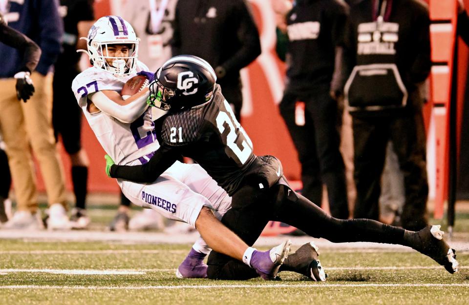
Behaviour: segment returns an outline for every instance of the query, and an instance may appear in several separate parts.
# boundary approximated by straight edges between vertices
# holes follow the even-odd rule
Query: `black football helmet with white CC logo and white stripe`
[[[212,66],[192,55],[166,61],[150,83],[149,104],[162,110],[182,110],[210,102],[216,75]]]

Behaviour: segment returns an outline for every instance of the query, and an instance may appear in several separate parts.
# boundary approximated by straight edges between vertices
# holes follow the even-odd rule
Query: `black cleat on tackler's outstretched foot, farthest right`
[[[428,225],[416,232],[416,244],[413,248],[431,257],[452,274],[458,272],[459,263],[456,261],[456,251],[443,240],[445,232],[441,231],[440,227],[441,225]]]

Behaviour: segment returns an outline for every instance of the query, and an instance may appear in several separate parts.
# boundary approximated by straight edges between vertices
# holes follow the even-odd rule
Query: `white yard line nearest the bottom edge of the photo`
[[[469,287],[464,284],[233,284],[233,285],[155,285],[155,286],[48,286],[5,285],[0,289],[90,289],[90,290],[140,290],[140,289],[220,289],[220,288],[329,288],[329,287]]]

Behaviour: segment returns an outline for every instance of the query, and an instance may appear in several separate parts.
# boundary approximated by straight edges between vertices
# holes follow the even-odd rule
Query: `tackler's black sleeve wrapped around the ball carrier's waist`
[[[142,165],[112,165],[109,171],[112,178],[133,182],[150,183],[155,181],[180,157],[177,148],[163,145],[155,151],[148,163]]]

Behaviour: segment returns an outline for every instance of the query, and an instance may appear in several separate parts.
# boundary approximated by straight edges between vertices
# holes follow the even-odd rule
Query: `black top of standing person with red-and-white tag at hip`
[[[286,16],[288,90],[329,91],[347,15],[348,6],[341,0],[296,2]]]

